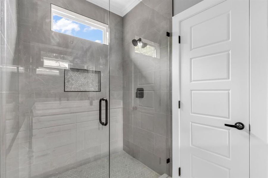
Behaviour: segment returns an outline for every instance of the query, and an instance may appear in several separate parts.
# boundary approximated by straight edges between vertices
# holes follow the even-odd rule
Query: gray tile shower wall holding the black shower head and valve
[[[143,0],[123,17],[123,150],[160,175],[172,173],[171,17],[172,0]],[[139,52],[131,42],[139,37],[154,48]]]

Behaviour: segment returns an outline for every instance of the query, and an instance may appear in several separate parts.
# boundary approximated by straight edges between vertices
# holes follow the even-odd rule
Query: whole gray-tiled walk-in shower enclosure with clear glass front
[[[0,15],[1,178],[171,176],[172,0],[0,0]]]

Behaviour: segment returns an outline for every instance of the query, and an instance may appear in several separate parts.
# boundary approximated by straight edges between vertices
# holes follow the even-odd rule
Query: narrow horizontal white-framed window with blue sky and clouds
[[[108,25],[51,4],[51,30],[108,45]]]

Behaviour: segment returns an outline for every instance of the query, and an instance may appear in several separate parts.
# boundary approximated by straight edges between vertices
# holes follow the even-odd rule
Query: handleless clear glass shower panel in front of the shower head
[[[167,36],[172,14],[164,16],[172,12],[172,1],[131,2],[128,6],[110,2],[110,23],[117,23],[116,38],[110,39],[111,44],[115,43],[111,45],[111,93],[119,86],[113,78],[123,79],[123,149],[115,150],[111,142],[110,177],[158,178],[170,175],[172,161]],[[121,10],[117,11],[119,5]],[[117,35],[117,31],[123,35]],[[112,36],[112,26],[110,32]],[[113,58],[112,54],[117,55]],[[112,71],[115,61],[123,63],[122,73]],[[111,141],[112,134],[111,128]]]

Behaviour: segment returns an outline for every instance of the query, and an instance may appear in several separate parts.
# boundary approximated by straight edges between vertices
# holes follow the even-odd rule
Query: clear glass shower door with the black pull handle
[[[109,177],[109,1],[0,5],[1,178]]]

